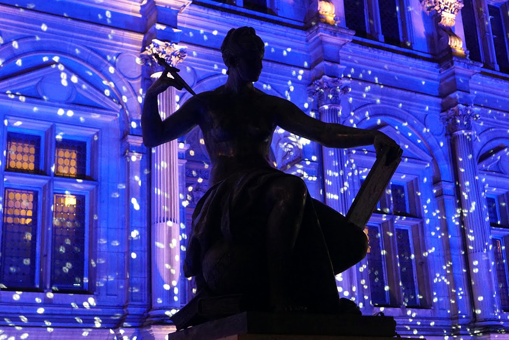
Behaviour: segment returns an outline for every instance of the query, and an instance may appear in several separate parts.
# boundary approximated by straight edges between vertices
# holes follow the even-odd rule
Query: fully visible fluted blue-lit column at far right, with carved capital
[[[477,330],[485,329],[496,320],[501,310],[495,273],[492,271],[493,254],[490,250],[490,225],[483,212],[483,189],[479,183],[477,161],[474,157],[471,121],[477,115],[471,107],[458,104],[442,114],[449,135],[453,166],[460,203],[460,223],[466,245],[467,268],[473,305],[473,322]]]

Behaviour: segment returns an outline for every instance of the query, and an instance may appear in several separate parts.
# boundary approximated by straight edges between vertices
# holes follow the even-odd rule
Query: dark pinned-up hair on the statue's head
[[[250,40],[250,46],[246,47],[243,42]],[[232,57],[242,54],[245,50],[250,49],[261,53],[265,53],[265,44],[262,39],[256,35],[253,27],[239,27],[238,29],[231,29],[224,38],[221,44],[221,53],[224,61],[224,65],[228,68],[230,65],[230,59]]]

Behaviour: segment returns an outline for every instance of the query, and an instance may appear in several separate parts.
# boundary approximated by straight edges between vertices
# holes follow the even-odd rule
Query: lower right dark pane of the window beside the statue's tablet
[[[415,293],[413,268],[414,256],[412,256],[412,248],[410,247],[408,230],[396,229],[396,241],[398,246],[398,260],[400,264],[403,304],[405,306],[417,306],[419,303]]]

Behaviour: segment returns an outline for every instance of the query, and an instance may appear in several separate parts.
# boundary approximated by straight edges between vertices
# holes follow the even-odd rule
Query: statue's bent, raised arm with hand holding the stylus
[[[163,72],[163,74],[165,74]],[[199,98],[189,98],[177,111],[164,121],[159,115],[157,95],[169,86],[175,86],[174,80],[161,76],[147,90],[142,111],[143,143],[146,147],[154,148],[167,141],[178,138],[189,132],[199,123],[201,101]],[[181,87],[180,87],[181,88]]]

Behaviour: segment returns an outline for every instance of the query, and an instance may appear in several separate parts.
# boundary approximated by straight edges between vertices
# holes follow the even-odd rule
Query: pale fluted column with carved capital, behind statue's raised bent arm
[[[185,48],[176,44],[153,40],[146,55],[158,54],[177,67],[185,56]],[[151,65],[155,65],[152,60]],[[161,67],[153,67],[151,77],[156,79]],[[164,120],[176,106],[175,89],[169,88],[158,96],[159,114]],[[180,308],[180,210],[179,161],[177,140],[152,149],[151,165],[151,288],[152,322],[167,321]]]

